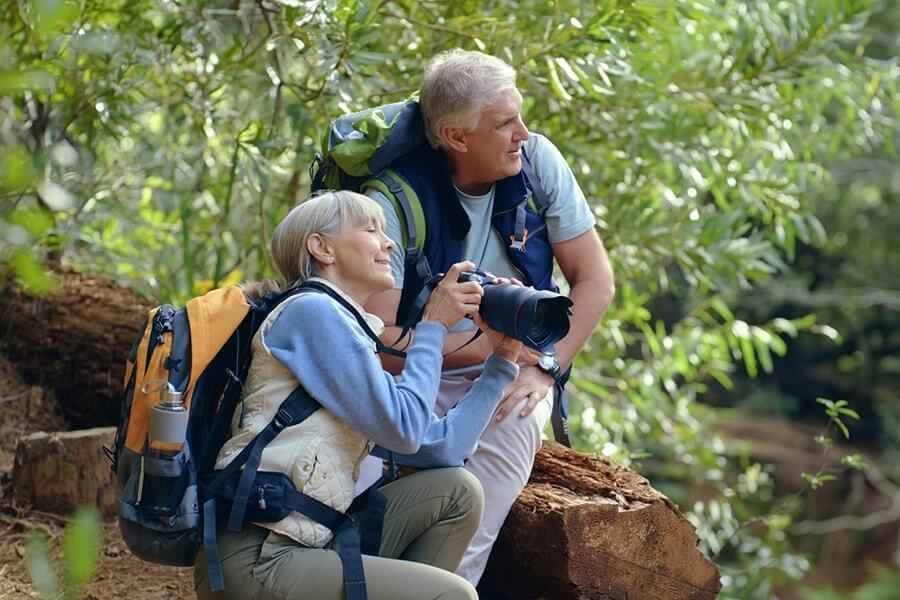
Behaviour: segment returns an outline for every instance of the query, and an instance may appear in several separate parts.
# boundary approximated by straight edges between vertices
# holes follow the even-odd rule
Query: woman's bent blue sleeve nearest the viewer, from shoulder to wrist
[[[433,421],[446,333],[439,323],[420,323],[395,381],[345,308],[323,294],[303,294],[278,315],[265,342],[339,419],[389,450],[414,453]]]

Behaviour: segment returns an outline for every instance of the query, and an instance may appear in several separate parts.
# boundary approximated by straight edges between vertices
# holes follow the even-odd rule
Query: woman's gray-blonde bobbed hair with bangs
[[[349,191],[318,193],[291,209],[272,233],[272,258],[288,284],[318,274],[319,263],[310,254],[309,238],[319,234],[335,238],[345,225],[384,227],[384,211],[368,196]]]

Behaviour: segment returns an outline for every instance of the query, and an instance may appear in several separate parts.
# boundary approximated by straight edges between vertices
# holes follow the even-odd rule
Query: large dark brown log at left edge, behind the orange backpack
[[[125,359],[150,302],[115,283],[68,270],[60,289],[0,289],[0,350],[29,383],[52,389],[76,428],[119,418]]]

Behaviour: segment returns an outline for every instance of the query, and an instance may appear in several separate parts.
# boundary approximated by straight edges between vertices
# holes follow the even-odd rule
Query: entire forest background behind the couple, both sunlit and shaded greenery
[[[616,273],[575,446],[680,505],[723,598],[895,597],[898,28],[877,0],[14,0],[2,276],[52,292],[61,261],[158,301],[271,276],[332,118],[496,54]],[[782,430],[816,457],[796,477],[755,450]]]

